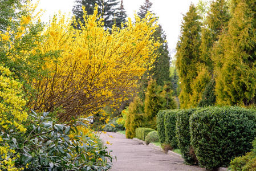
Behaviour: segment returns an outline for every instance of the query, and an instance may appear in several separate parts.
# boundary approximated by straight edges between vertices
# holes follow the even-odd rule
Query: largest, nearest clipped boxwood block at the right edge
[[[199,165],[226,167],[252,148],[255,111],[240,107],[208,107],[190,116],[191,143]]]

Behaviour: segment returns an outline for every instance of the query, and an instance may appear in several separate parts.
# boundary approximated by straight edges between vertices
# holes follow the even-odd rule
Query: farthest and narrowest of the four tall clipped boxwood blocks
[[[164,115],[166,111],[169,111],[169,110],[159,111],[156,116],[157,132],[158,132],[159,141],[161,144],[165,142]]]

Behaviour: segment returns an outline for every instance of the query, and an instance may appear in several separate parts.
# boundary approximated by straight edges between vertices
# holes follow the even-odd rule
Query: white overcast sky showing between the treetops
[[[195,5],[199,0],[150,0],[153,3],[151,10],[159,17],[159,23],[166,34],[169,49],[176,47],[178,35],[180,35],[180,25],[182,14],[189,10],[189,5],[193,2]],[[145,0],[123,0],[124,9],[127,11],[128,17],[133,18],[135,11],[139,11]],[[62,13],[70,13],[72,15],[72,7],[74,0],[40,0],[38,9],[43,9],[46,12],[43,15],[42,21],[48,22],[49,16],[58,11]]]

